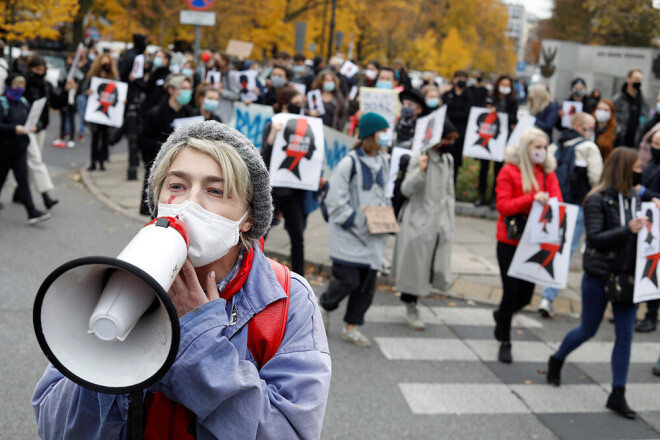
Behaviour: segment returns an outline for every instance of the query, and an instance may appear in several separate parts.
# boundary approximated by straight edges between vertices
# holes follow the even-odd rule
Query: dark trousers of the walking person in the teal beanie
[[[344,322],[347,324],[364,324],[367,313],[376,293],[377,271],[368,267],[354,267],[332,263],[332,279],[319,304],[331,312],[339,307],[341,300],[348,298]]]

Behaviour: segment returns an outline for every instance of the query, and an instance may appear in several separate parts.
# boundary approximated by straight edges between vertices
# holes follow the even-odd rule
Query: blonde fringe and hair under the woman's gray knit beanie
[[[248,211],[248,218],[251,219],[252,212],[250,211],[250,206],[254,190],[250,181],[250,172],[245,161],[232,146],[210,139],[190,138],[175,144],[165,153],[162,160],[157,162],[158,166],[151,170],[154,206],[158,206],[158,199],[160,198],[163,183],[174,159],[186,148],[192,148],[200,153],[204,153],[218,163],[222,170],[224,184],[223,197],[233,198],[241,202]],[[245,238],[242,232],[240,234],[240,243],[245,249],[252,247],[251,240]]]

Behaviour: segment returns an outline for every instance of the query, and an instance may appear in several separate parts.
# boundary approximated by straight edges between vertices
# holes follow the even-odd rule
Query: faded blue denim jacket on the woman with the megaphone
[[[258,371],[247,322],[285,296],[255,249],[250,275],[229,303],[218,299],[180,319],[176,361],[154,386],[197,415],[197,439],[317,439],[330,387],[330,354],[314,293],[291,274],[289,316],[276,355]],[[229,324],[234,305],[236,324]],[[32,397],[42,439],[124,439],[128,395],[87,390],[49,365]]]

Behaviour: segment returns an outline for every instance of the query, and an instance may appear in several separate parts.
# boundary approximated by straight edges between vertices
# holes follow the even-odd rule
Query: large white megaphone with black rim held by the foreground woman
[[[179,349],[179,319],[167,291],[189,245],[183,222],[160,217],[117,258],[84,257],[55,269],[33,309],[48,360],[72,381],[103,393],[158,381]]]

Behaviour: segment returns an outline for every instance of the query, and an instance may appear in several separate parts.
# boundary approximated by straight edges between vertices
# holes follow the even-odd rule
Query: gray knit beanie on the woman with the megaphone
[[[175,130],[167,141],[160,147],[158,155],[151,165],[151,174],[147,186],[147,201],[152,215],[156,215],[157,206],[154,206],[153,196],[153,176],[154,170],[169,151],[175,145],[188,141],[188,139],[206,139],[212,141],[221,141],[231,145],[245,161],[250,172],[250,181],[252,182],[253,195],[249,201],[252,211],[252,220],[254,225],[245,237],[251,240],[259,240],[263,237],[273,218],[273,198],[271,196],[270,177],[268,169],[261,159],[259,151],[255,146],[241,134],[238,130],[217,121],[204,121],[189,124]]]

